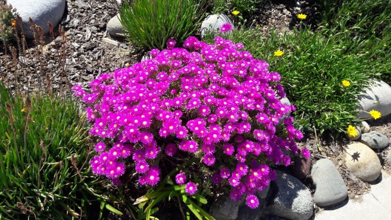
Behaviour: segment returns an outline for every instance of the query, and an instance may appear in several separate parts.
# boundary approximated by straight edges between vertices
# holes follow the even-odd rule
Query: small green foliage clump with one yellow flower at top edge
[[[239,11],[241,14],[250,15],[259,10],[264,0],[215,0],[214,14],[231,14],[232,11]]]

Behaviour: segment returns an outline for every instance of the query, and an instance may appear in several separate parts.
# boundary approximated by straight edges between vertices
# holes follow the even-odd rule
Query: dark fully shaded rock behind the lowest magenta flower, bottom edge
[[[257,192],[256,195],[260,200],[258,208],[250,209],[247,205],[243,205],[243,207],[239,209],[238,218],[236,220],[259,220],[262,216],[262,211],[266,206],[267,198],[270,197],[271,191],[269,189],[270,185],[266,189]]]

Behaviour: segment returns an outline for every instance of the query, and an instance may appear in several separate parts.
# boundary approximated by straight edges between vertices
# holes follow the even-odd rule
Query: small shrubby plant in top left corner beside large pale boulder
[[[0,1],[0,41],[4,43],[15,38],[15,33],[11,26],[11,19],[16,20],[15,9]]]

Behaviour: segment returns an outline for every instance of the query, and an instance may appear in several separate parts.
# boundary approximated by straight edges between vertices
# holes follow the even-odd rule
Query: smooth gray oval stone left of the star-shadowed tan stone
[[[312,167],[311,175],[316,184],[314,202],[318,206],[334,205],[348,197],[344,179],[331,160],[318,160]]]

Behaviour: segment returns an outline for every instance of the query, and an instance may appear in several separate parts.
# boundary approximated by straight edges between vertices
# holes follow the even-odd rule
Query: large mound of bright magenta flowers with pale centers
[[[212,181],[230,188],[232,199],[246,195],[250,208],[258,206],[255,192],[275,177],[270,165],[289,165],[297,154],[294,139],[303,134],[287,116],[293,105],[280,101],[281,76],[243,44],[215,42],[189,37],[185,48],[174,48],[171,40],[167,49],[151,51],[153,59],[100,75],[90,83],[92,93],[74,86],[90,105],[90,134],[100,139],[91,161],[95,174],[119,183],[131,161],[138,182],[155,186],[165,161],[196,157],[200,163],[184,170],[203,175],[198,182],[192,172],[175,176],[186,193]]]

